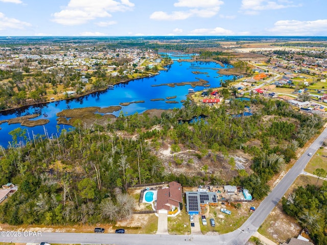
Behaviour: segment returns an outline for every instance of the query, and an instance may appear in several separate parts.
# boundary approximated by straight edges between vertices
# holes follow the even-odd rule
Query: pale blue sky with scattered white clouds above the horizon
[[[327,36],[326,0],[0,0],[0,36]]]

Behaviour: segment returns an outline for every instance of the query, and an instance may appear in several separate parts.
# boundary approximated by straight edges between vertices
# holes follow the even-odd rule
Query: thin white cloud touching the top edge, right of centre
[[[285,0],[242,0],[241,9],[245,10],[243,13],[248,15],[258,14],[259,11],[263,10],[276,10],[276,9],[285,9],[292,7],[299,7],[300,4],[295,5],[293,1]]]

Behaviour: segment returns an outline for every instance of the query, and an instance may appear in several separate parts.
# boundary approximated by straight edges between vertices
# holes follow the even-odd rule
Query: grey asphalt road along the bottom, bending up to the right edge
[[[308,153],[315,153],[327,138],[327,128],[311,144],[310,148],[296,161],[284,178],[263,200],[255,212],[236,231],[216,236],[207,235],[145,235],[145,234],[96,234],[96,233],[6,233],[0,232],[1,242],[49,243],[102,243],[119,245],[179,245],[179,244],[245,244],[259,229],[266,217],[282,199],[294,180],[305,169],[310,158]],[[16,235],[16,236],[15,236]]]

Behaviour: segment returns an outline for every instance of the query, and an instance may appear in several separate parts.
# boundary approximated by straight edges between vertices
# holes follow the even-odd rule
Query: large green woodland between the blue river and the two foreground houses
[[[248,108],[253,115],[243,116]],[[185,122],[200,115],[197,122]],[[269,191],[267,182],[295,158],[297,148],[322,123],[320,117],[300,114],[282,101],[256,97],[231,100],[219,108],[186,100],[181,109],[163,112],[161,117],[121,113],[105,123],[99,119],[95,125],[77,120],[74,128],[54,138],[31,139],[26,130],[17,128],[10,132],[11,147],[0,150],[0,182],[12,182],[19,189],[0,206],[0,222],[115,222],[133,210],[133,197],[126,194],[129,186],[158,181],[177,180],[183,186],[243,185],[255,199],[262,199]],[[209,156],[218,165],[228,161],[231,167],[235,162],[228,153],[242,150],[253,157],[251,171],[239,171],[230,180],[215,173],[176,175],[156,156],[164,142],[171,142],[172,151],[183,146],[200,152],[199,159]],[[176,158],[172,164],[182,161]]]

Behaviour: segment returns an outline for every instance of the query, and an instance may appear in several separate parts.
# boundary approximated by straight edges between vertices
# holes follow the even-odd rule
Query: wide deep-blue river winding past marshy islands
[[[32,138],[32,134],[44,135],[45,132],[51,137],[52,135],[59,135],[57,126],[61,129],[68,129],[71,126],[57,125],[56,114],[65,109],[83,108],[90,106],[109,107],[118,106],[124,102],[145,101],[144,103],[134,103],[128,106],[122,106],[122,111],[125,115],[131,115],[135,112],[142,113],[149,109],[173,109],[182,106],[181,101],[186,99],[188,89],[193,88],[191,85],[170,87],[167,85],[151,86],[167,83],[181,83],[181,82],[196,82],[198,79],[208,81],[210,87],[220,87],[220,81],[231,79],[230,76],[221,76],[217,74],[217,68],[225,68],[215,62],[178,62],[176,60],[189,59],[190,55],[174,55],[169,54],[174,60],[174,63],[167,66],[167,70],[161,70],[159,75],[136,79],[126,83],[114,85],[114,89],[108,89],[101,92],[88,94],[78,99],[63,100],[57,102],[50,102],[42,105],[29,106],[17,110],[0,112],[0,121],[4,119],[15,118],[17,116],[24,116],[30,114],[39,114],[37,119],[49,119],[50,122],[44,126],[24,127],[20,124],[8,125],[7,122],[0,124],[0,145],[8,147],[8,143],[12,141],[12,136],[9,132],[20,127],[27,129],[28,137]],[[193,74],[192,71],[207,72],[207,74]],[[195,91],[203,90],[205,87],[197,86],[193,89]],[[170,101],[177,101],[178,104],[166,103],[166,97],[177,96],[176,99]],[[151,99],[165,99],[165,101],[150,101]],[[111,113],[115,116],[120,114],[120,111]]]

